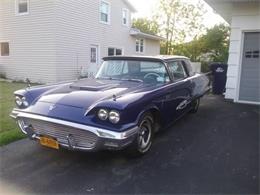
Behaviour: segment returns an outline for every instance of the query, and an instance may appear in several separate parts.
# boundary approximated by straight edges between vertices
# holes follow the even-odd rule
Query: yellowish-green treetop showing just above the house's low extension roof
[[[157,21],[147,18],[134,19],[132,22],[132,27],[137,28],[144,33],[152,35],[158,35],[160,31],[159,24],[157,23]]]

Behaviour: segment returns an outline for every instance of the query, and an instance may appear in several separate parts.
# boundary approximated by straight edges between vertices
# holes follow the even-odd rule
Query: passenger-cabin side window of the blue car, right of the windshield
[[[179,61],[169,62],[168,67],[170,73],[174,77],[174,80],[185,79],[187,77],[187,73],[181,62]]]

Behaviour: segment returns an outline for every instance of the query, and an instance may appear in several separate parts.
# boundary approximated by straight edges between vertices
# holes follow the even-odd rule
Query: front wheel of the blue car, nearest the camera
[[[132,154],[143,155],[150,150],[154,135],[153,124],[153,117],[150,113],[147,113],[142,117],[139,123],[139,132],[131,147]]]

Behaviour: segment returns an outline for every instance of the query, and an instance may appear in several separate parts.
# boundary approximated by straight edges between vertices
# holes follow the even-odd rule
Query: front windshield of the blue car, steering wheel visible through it
[[[170,81],[163,63],[137,60],[104,61],[96,78],[146,83],[166,83]]]

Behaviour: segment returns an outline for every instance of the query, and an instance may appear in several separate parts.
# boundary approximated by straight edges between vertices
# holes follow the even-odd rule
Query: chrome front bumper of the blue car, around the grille
[[[24,123],[24,119],[37,120],[37,121],[42,121],[42,122],[51,123],[55,125],[62,125],[63,127],[66,128],[71,128],[71,129],[74,128],[83,131],[83,133],[86,132],[86,133],[92,133],[93,135],[96,135],[97,139],[95,141],[95,144],[91,147],[78,146],[77,142],[73,139],[73,135],[71,134],[68,134],[66,136],[66,140],[63,139],[64,141],[59,141],[57,137],[53,137],[58,140],[59,145],[61,147],[65,147],[71,150],[83,150],[83,151],[92,151],[92,150],[100,150],[100,149],[119,150],[130,145],[135,140],[136,134],[139,131],[139,128],[136,126],[124,132],[114,132],[107,129],[82,125],[82,124],[64,121],[60,119],[55,119],[55,118],[50,118],[50,117],[45,117],[45,116],[40,116],[35,114],[29,114],[29,113],[21,112],[18,109],[14,109],[10,114],[10,116],[17,120],[17,123],[21,131],[24,134],[28,135],[28,137],[33,140],[39,140],[40,137],[44,135],[36,133],[32,129],[32,127]]]

